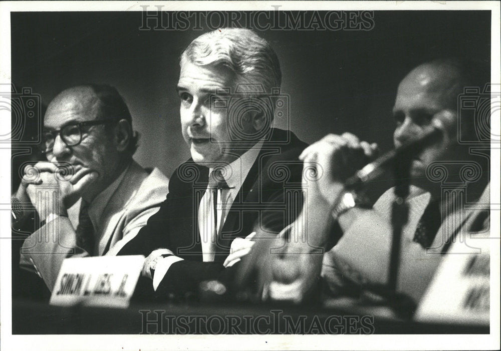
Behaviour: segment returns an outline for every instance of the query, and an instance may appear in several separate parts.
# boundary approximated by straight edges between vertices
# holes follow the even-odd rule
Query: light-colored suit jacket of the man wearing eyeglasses
[[[95,233],[96,256],[115,255],[136,236],[165,200],[168,181],[158,169],[148,174],[132,162],[99,216],[100,231]],[[68,212],[78,213],[80,202]],[[51,291],[65,258],[89,256],[77,246],[75,230],[76,224],[69,218],[56,217],[30,235],[21,248],[21,267],[35,270]]]

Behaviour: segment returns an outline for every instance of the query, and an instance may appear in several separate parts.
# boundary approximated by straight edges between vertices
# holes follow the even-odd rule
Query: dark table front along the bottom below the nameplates
[[[13,334],[465,334],[488,325],[417,322],[384,306],[132,303],[128,308],[60,307],[13,300]]]

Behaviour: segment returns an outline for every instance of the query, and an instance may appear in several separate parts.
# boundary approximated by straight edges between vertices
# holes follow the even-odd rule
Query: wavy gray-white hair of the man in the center
[[[182,53],[180,65],[224,66],[237,75],[237,83],[263,85],[266,93],[280,88],[282,73],[270,44],[248,29],[222,28],[202,34]]]

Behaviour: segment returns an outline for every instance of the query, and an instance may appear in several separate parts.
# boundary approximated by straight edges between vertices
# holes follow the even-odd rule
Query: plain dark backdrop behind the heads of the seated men
[[[115,86],[141,134],[135,159],[170,177],[189,157],[175,92],[178,58],[205,31],[140,31],[141,16],[12,13],[12,81],[45,105],[81,83]],[[447,56],[490,60],[489,11],[383,11],[374,21],[371,31],[256,31],[279,56],[291,129],[306,142],[349,131],[389,150],[391,108],[409,70]]]

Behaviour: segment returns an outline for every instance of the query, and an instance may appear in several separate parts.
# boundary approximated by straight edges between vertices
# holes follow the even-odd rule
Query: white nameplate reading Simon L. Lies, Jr
[[[127,307],[143,267],[144,256],[67,258],[50,304]]]

